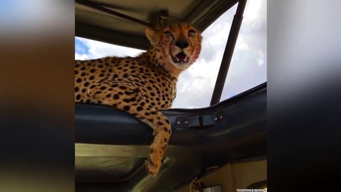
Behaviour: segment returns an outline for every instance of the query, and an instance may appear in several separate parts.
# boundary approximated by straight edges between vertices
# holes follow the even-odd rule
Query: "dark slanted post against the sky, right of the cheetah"
[[[235,16],[233,17],[231,29],[230,29],[230,34],[227,39],[224,55],[223,55],[223,60],[221,61],[216,85],[214,87],[212,99],[210,106],[215,105],[219,103],[221,94],[224,89],[225,81],[226,81],[226,76],[230,68],[231,64],[231,59],[233,56],[233,52],[236,46],[239,30],[242,25],[243,21],[243,14],[245,10],[247,0],[239,0],[238,2],[238,7]]]

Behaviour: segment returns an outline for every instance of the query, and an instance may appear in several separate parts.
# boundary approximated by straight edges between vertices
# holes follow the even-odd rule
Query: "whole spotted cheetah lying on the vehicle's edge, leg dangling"
[[[147,28],[151,43],[136,57],[75,60],[75,101],[113,106],[153,128],[147,172],[155,178],[171,136],[170,109],[181,72],[201,51],[201,33],[191,24],[174,22]]]

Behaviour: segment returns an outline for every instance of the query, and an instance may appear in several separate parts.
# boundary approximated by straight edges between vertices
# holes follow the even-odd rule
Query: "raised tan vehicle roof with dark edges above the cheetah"
[[[147,25],[157,25],[160,11],[168,11],[169,21],[192,23],[203,31],[238,1],[76,0],[75,36],[146,50],[150,43],[145,29]],[[117,13],[138,19],[145,25],[117,16]]]

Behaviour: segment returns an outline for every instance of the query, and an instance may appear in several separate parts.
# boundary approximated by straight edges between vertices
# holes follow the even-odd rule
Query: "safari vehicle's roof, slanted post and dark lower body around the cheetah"
[[[236,192],[266,188],[266,82],[220,101],[246,0],[76,0],[75,36],[146,50],[146,27],[168,21],[204,31],[238,3],[211,104],[162,111],[172,134],[156,178],[148,175],[153,130],[107,105],[75,103],[77,192]],[[207,190],[206,190],[207,191]]]

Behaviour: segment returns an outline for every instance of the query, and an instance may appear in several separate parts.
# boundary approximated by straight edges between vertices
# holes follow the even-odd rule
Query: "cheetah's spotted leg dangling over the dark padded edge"
[[[102,102],[135,115],[154,129],[154,142],[151,144],[150,158],[146,161],[147,172],[153,177],[159,172],[171,136],[169,119],[146,102],[139,90],[128,83],[105,82],[91,90],[88,95]]]

